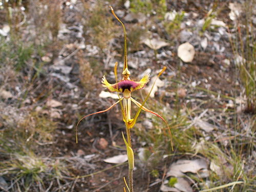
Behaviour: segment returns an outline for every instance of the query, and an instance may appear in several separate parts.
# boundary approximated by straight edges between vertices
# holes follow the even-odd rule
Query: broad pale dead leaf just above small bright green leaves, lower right
[[[203,168],[207,168],[207,162],[203,159],[178,160],[176,163],[170,165],[166,177],[182,177],[187,172],[196,174]]]

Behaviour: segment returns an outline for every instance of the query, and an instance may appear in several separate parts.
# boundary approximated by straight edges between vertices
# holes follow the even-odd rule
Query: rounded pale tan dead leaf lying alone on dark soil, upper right
[[[178,47],[178,57],[181,58],[184,62],[193,61],[195,56],[194,46],[189,44],[189,42],[185,42]]]

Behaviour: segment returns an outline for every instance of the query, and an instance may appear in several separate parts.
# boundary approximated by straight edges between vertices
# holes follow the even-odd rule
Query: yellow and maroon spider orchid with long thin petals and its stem
[[[116,78],[116,83],[111,84],[109,83],[108,80],[106,80],[106,77],[103,76],[101,83],[102,86],[106,89],[108,89],[111,92],[117,92],[119,100],[117,102],[115,102],[114,104],[112,104],[108,109],[106,110],[102,110],[102,111],[98,111],[96,113],[92,113],[89,115],[84,116],[83,118],[81,118],[77,125],[76,125],[76,143],[77,143],[77,126],[78,124],[81,122],[81,120],[83,120],[84,118],[87,118],[91,115],[95,115],[95,114],[99,114],[99,113],[104,113],[107,112],[109,110],[111,110],[113,108],[113,106],[115,106],[117,103],[120,103],[121,106],[121,111],[122,111],[122,116],[123,116],[123,121],[125,122],[126,125],[126,134],[127,134],[127,141],[124,137],[124,135],[122,134],[123,140],[125,142],[126,145],[126,150],[127,150],[127,156],[128,156],[128,161],[129,161],[129,187],[126,184],[126,181],[124,179],[124,182],[126,184],[126,187],[128,189],[128,191],[133,192],[133,168],[134,168],[134,154],[133,154],[133,150],[132,150],[132,143],[131,143],[131,133],[130,130],[134,127],[137,118],[141,112],[141,110],[145,111],[145,112],[149,112],[152,113],[154,115],[156,115],[157,117],[161,118],[164,123],[166,124],[167,128],[168,128],[168,132],[170,135],[170,139],[171,139],[171,146],[172,146],[172,150],[173,150],[173,144],[172,144],[172,134],[170,132],[170,128],[168,126],[168,123],[166,122],[166,120],[160,116],[159,114],[145,108],[144,104],[146,102],[146,100],[150,97],[150,93],[153,90],[153,87],[156,83],[157,78],[166,70],[166,67],[164,67],[161,72],[158,74],[156,80],[153,83],[153,86],[150,90],[150,92],[146,95],[144,101],[142,103],[136,101],[134,98],[132,98],[131,94],[134,91],[143,89],[146,85],[146,83],[148,81],[150,81],[150,74],[146,74],[144,75],[139,81],[134,81],[132,79],[130,79],[130,71],[128,70],[128,66],[127,66],[127,45],[126,45],[126,30],[125,27],[123,25],[123,23],[121,22],[121,20],[116,16],[114,10],[112,7],[111,11],[113,13],[113,15],[115,16],[115,18],[119,21],[119,23],[122,25],[123,27],[123,31],[124,31],[124,66],[123,66],[123,72],[122,72],[122,79],[120,81],[117,81],[117,62],[115,63],[115,68],[114,68],[114,73],[115,73],[115,78]],[[123,97],[120,97],[120,94],[123,95]],[[134,118],[131,118],[131,104],[135,103],[135,105],[138,106],[138,111],[135,114]],[[125,188],[124,188],[125,191]]]

